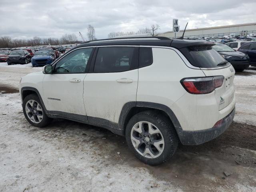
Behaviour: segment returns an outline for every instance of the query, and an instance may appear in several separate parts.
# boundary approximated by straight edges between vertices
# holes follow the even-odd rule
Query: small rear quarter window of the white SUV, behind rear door
[[[151,47],[140,47],[139,67],[149,66],[153,63]]]

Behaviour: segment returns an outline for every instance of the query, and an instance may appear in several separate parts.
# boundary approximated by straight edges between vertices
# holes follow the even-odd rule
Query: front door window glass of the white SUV
[[[62,57],[56,63],[54,73],[80,73],[85,72],[87,62],[91,56],[93,48],[83,48],[74,50]]]

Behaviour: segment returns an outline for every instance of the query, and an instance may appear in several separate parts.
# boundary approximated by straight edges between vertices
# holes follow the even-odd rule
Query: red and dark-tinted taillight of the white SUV
[[[181,80],[182,86],[191,94],[207,94],[215,88],[222,86],[224,76],[185,78]]]

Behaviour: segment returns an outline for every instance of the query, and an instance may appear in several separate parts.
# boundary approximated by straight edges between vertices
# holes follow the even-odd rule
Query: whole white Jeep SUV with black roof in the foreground
[[[126,137],[141,161],[165,162],[184,145],[222,134],[235,114],[235,70],[213,42],[124,38],[84,42],[22,77],[24,115],[100,126]]]

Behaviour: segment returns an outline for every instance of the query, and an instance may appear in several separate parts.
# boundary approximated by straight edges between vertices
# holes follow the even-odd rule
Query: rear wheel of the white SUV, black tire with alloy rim
[[[140,112],[126,126],[126,142],[142,162],[158,165],[176,152],[178,136],[170,120],[154,111]]]

